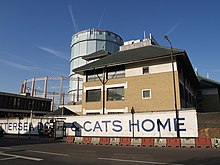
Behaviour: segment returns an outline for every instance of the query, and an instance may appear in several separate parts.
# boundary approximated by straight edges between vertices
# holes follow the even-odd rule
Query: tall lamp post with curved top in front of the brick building
[[[173,47],[167,35],[164,36],[164,39],[167,40],[170,44],[170,57],[171,57],[172,73],[173,73],[174,107],[175,107],[175,112],[176,112],[176,131],[177,131],[177,137],[179,138],[180,137],[179,111],[177,109],[177,99],[176,99],[176,82],[175,82],[175,72],[174,72],[174,62],[173,62]]]

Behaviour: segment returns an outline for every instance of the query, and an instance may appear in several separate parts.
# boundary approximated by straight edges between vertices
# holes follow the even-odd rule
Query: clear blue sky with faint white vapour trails
[[[89,28],[125,41],[146,31],[162,46],[169,46],[167,34],[200,75],[220,81],[219,6],[218,0],[1,0],[0,91],[19,93],[33,77],[68,76],[71,37]]]

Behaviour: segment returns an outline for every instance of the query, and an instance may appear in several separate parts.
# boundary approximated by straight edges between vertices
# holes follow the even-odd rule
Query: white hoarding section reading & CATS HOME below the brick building
[[[65,120],[67,135],[96,137],[176,137],[175,111],[123,115],[74,116]],[[195,110],[179,112],[180,137],[198,137]]]

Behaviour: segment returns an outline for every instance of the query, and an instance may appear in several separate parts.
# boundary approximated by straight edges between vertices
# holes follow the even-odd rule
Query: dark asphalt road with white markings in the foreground
[[[220,164],[220,149],[76,145],[0,138],[1,165]]]

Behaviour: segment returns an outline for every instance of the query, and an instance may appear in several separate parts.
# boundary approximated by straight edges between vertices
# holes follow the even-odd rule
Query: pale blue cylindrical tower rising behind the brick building
[[[70,101],[77,102],[82,99],[82,82],[77,81],[82,77],[72,71],[86,64],[82,57],[99,50],[114,54],[118,52],[121,45],[123,45],[123,39],[118,34],[106,30],[89,29],[73,35],[69,75],[69,94],[72,94],[73,97]]]

